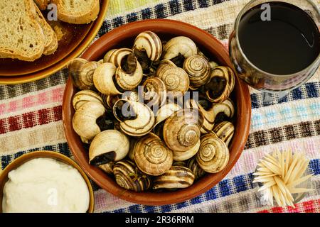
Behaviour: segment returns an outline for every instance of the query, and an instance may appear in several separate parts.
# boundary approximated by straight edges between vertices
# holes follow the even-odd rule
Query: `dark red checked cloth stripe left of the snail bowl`
[[[54,106],[9,118],[0,119],[0,134],[18,131],[22,128],[32,128],[50,122],[62,120],[62,106]]]

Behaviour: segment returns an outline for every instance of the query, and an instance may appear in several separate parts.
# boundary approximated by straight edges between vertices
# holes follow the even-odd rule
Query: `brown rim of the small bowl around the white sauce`
[[[58,160],[60,162],[64,162],[68,165],[71,165],[77,169],[80,174],[82,175],[83,179],[85,179],[85,182],[87,183],[87,188],[89,189],[89,194],[90,194],[90,204],[89,204],[89,209],[87,210],[88,213],[92,213],[93,209],[95,207],[95,197],[93,195],[93,190],[91,183],[89,179],[87,178],[87,175],[85,175],[85,172],[80,168],[80,166],[75,163],[70,157],[67,157],[65,155],[62,155],[60,153],[56,153],[53,151],[35,151],[31,153],[27,153],[25,155],[22,155],[21,157],[16,158],[13,162],[11,162],[1,173],[0,175],[0,213],[2,213],[2,196],[3,196],[3,190],[4,190],[4,184],[8,181],[8,173],[11,170],[15,170],[17,167],[23,165],[23,163],[28,162],[34,158],[38,157],[48,157],[48,158],[53,158],[55,160]]]

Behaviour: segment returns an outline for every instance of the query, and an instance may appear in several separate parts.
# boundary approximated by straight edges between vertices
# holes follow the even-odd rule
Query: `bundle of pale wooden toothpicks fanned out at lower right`
[[[272,154],[265,155],[257,164],[253,182],[262,183],[258,191],[262,192],[262,199],[272,206],[274,199],[278,206],[294,206],[292,194],[312,191],[312,189],[297,188],[312,176],[304,176],[308,165],[309,160],[302,153],[292,154],[291,150],[283,152],[276,150]]]

